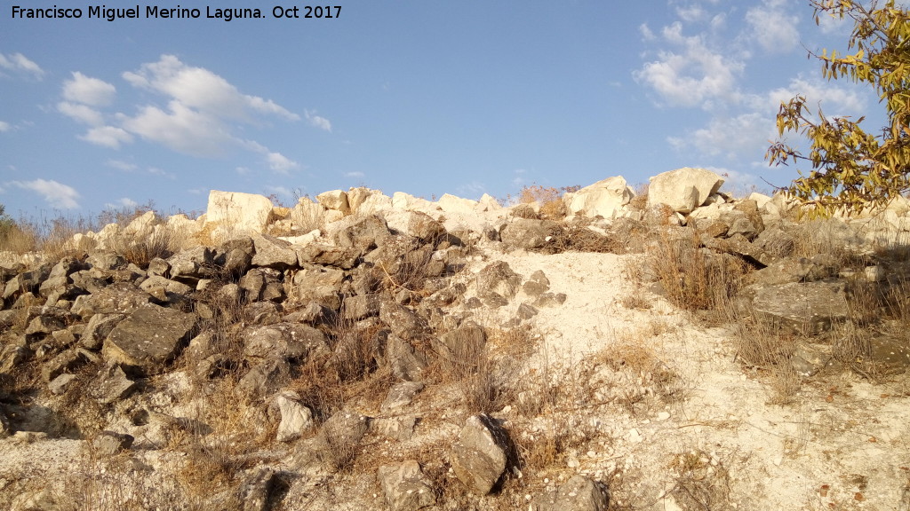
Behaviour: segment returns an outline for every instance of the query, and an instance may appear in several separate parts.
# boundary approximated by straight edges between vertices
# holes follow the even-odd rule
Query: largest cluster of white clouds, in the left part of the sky
[[[174,55],[161,55],[157,62],[140,65],[121,76],[127,84],[152,93],[160,102],[137,105],[132,114],[106,112],[105,107],[116,99],[116,87],[75,72],[63,85],[63,101],[57,104],[57,110],[92,126],[78,136],[81,140],[116,149],[138,137],[197,157],[224,157],[240,148],[261,154],[263,165],[279,174],[299,167],[288,156],[235,135],[248,125],[261,125],[269,117],[300,119],[274,101],[243,94],[225,78],[205,68],[186,65]],[[320,129],[331,130],[328,119],[309,112],[307,118]]]

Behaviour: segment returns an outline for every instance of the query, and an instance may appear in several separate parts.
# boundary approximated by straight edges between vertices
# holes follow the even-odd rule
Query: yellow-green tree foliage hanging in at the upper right
[[[881,133],[867,133],[849,117],[828,118],[819,107],[813,118],[804,96],[781,105],[777,114],[778,135],[796,132],[809,142],[804,155],[778,141],[765,158],[774,165],[808,162],[812,171],[785,187],[784,191],[816,211],[860,213],[886,205],[910,189],[910,17],[895,0],[810,0],[815,23],[820,15],[854,21],[848,53],[824,50],[810,55],[822,61],[823,75],[832,80],[848,78],[871,85],[885,105],[887,125]],[[849,53],[854,52],[854,53]]]

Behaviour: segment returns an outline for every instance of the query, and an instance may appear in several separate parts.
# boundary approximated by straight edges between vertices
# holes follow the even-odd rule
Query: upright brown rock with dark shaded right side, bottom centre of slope
[[[508,434],[487,415],[470,416],[452,445],[455,476],[478,495],[487,495],[505,473],[511,458]]]

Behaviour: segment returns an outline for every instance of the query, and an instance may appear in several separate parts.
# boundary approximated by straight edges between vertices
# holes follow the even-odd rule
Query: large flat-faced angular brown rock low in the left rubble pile
[[[115,364],[155,371],[177,356],[196,327],[196,316],[147,304],[111,331],[104,355]]]

